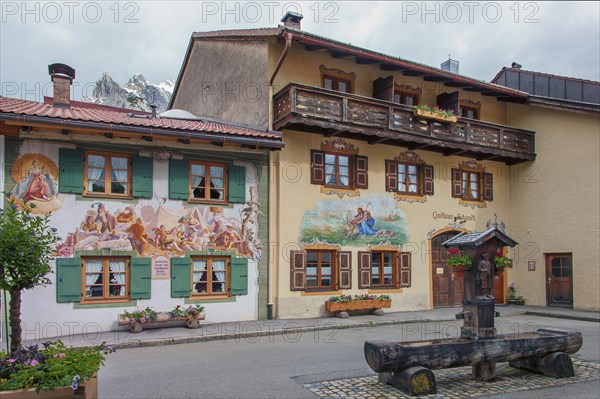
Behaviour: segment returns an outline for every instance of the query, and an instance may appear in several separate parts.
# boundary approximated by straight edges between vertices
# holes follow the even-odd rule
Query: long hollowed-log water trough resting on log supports
[[[381,382],[410,395],[437,393],[431,370],[473,366],[473,378],[486,381],[495,363],[543,373],[574,376],[569,354],[583,343],[580,332],[539,329],[535,332],[472,340],[450,338],[416,342],[367,341],[364,354]],[[489,372],[486,372],[488,370]]]

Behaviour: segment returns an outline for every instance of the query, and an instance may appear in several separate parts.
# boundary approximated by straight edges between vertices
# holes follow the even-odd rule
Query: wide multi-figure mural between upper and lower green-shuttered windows
[[[92,202],[81,215],[79,228],[68,232],[57,256],[75,251],[133,250],[140,257],[163,261],[185,251],[235,251],[237,256],[259,260],[262,254],[254,225],[260,214],[255,189],[239,208],[192,206],[172,208],[164,201],[136,205]]]

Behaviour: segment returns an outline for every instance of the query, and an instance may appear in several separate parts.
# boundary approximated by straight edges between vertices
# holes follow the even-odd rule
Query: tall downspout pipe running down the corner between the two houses
[[[277,64],[275,65],[275,69],[273,70],[273,74],[271,75],[271,79],[269,79],[269,130],[273,129],[273,118],[275,115],[275,110],[273,109],[274,107],[274,103],[273,103],[273,82],[275,81],[275,77],[277,76],[277,73],[279,72],[279,69],[281,68],[281,66],[283,65],[283,62],[285,61],[290,48],[292,47],[292,39],[294,37],[294,35],[291,32],[285,32],[283,34],[283,37],[285,38],[285,47],[283,48],[283,51],[281,52],[281,55],[279,56],[279,60],[277,61]],[[277,242],[278,240],[273,240],[273,235],[275,234],[275,231],[279,231],[279,201],[278,201],[278,191],[279,191],[279,181],[278,181],[278,177],[279,177],[279,154],[274,154],[273,152],[269,153],[269,158],[270,158],[270,164],[273,165],[270,170],[273,174],[275,174],[275,179],[274,181],[274,186],[272,187],[271,185],[269,185],[269,242],[275,241]],[[279,236],[279,234],[277,233],[277,236]],[[270,247],[270,246],[269,246]],[[276,246],[277,248],[277,246]],[[269,248],[269,250],[271,250],[271,248]],[[279,251],[273,251],[271,253],[271,255],[273,257],[278,257],[278,252]],[[272,268],[273,262],[269,262],[269,267],[267,268],[267,272],[268,272],[268,276],[267,276],[267,292],[268,292],[268,298],[267,298],[267,319],[268,320],[272,320],[273,319],[273,300],[274,300],[274,295],[273,295],[273,290],[274,290],[274,285],[275,285],[275,270],[277,269],[277,265],[278,262],[275,263],[275,268]]]

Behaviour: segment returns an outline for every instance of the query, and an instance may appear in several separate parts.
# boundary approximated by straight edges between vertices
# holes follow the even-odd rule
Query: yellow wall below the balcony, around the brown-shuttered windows
[[[329,138],[335,139],[335,138]],[[272,237],[278,237],[279,253],[275,257],[277,263],[277,291],[279,317],[311,317],[324,314],[324,302],[331,293],[306,295],[299,291],[290,291],[290,262],[289,250],[298,249],[301,243],[301,224],[305,211],[317,206],[318,201],[338,200],[338,197],[321,193],[321,186],[310,184],[310,150],[320,149],[322,142],[327,140],[321,135],[284,130],[285,148],[280,154],[280,191],[278,207],[280,223],[276,231],[271,231]],[[406,148],[390,145],[369,145],[366,142],[347,140],[358,147],[359,155],[369,159],[369,188],[359,190],[359,199],[364,199],[365,205],[370,194],[389,195],[385,191],[385,159],[393,159]],[[452,220],[434,220],[433,212],[446,214],[475,215],[475,221],[468,221],[464,227],[469,230],[483,231],[488,220],[498,220],[508,223],[509,219],[509,168],[497,162],[483,162],[487,171],[494,174],[494,200],[488,202],[487,208],[465,207],[459,205],[459,200],[452,198],[450,192],[450,170],[457,167],[459,162],[466,161],[461,157],[444,157],[441,154],[416,151],[429,165],[435,167],[435,195],[427,196],[425,203],[408,203],[394,201],[397,209],[405,213],[408,241],[403,251],[412,252],[412,286],[403,288],[401,292],[392,294],[392,310],[418,310],[431,307],[430,260],[428,254],[427,234],[446,228]],[[353,201],[344,197],[344,201]],[[344,216],[346,209],[340,209]],[[391,211],[391,210],[390,210]],[[377,227],[377,222],[375,227]],[[385,239],[382,239],[385,241]],[[366,293],[358,289],[358,251],[366,251],[366,247],[342,247],[343,251],[352,251],[352,290],[344,294]]]

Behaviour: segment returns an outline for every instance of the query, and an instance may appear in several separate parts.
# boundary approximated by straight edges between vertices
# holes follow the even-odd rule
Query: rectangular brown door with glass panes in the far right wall
[[[573,307],[572,254],[546,254],[548,306]]]

